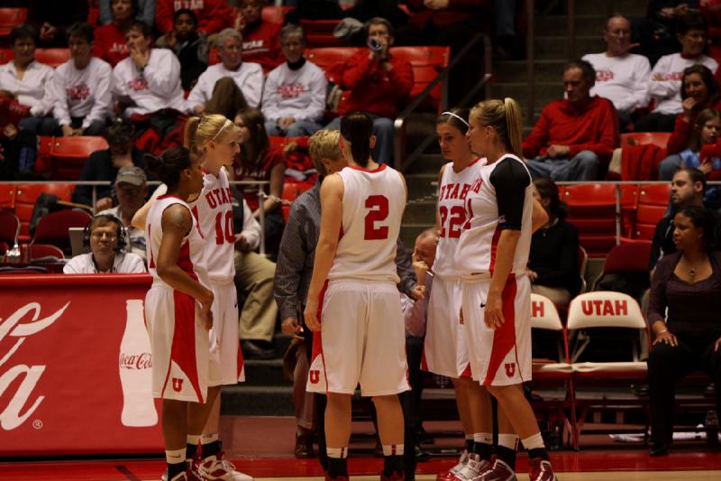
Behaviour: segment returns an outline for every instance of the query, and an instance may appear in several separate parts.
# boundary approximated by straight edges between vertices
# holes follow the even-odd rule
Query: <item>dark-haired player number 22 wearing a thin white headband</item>
[[[452,379],[466,449],[458,464],[438,476],[439,481],[463,481],[491,467],[494,454],[493,419],[486,388],[471,376],[466,329],[461,324],[461,275],[453,259],[461,230],[466,223],[465,199],[481,167],[486,164],[470,150],[466,139],[469,110],[454,108],[436,120],[436,133],[443,158],[449,160],[439,173],[438,246],[435,253],[434,289],[428,303],[424,342],[424,368]],[[497,457],[515,466],[517,437],[505,417],[499,420]]]

